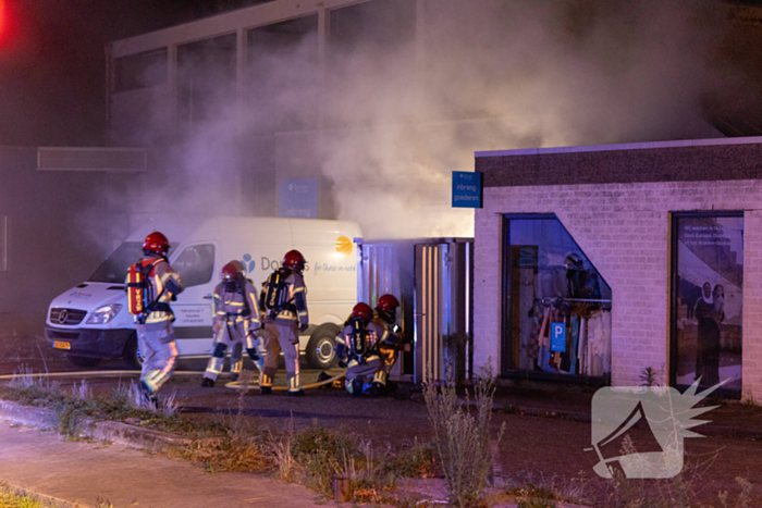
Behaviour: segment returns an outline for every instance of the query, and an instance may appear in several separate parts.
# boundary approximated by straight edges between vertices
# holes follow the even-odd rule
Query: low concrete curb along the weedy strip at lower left
[[[0,420],[17,425],[29,425],[38,429],[58,430],[56,411],[33,406],[23,406],[0,399]],[[179,437],[165,432],[144,429],[128,423],[115,421],[97,421],[83,418],[76,421],[79,436],[99,441],[110,441],[131,448],[148,451],[168,451],[171,448],[187,446],[193,439]]]

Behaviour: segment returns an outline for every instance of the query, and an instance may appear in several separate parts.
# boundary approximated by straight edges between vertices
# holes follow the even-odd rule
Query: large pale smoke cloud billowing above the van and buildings
[[[316,16],[251,32],[243,110],[220,39],[181,61],[187,143],[167,183],[183,210],[271,214],[276,178],[321,174],[332,213],[366,237],[471,236],[450,186],[474,151],[720,137],[702,114],[729,79],[724,9],[374,0],[333,13],[322,71]],[[126,129],[135,143],[167,131],[167,110],[151,111]],[[161,208],[165,191],[145,184],[139,199]]]

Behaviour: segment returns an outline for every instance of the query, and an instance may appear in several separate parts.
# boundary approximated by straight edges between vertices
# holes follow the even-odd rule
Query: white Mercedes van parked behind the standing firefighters
[[[174,332],[182,358],[211,355],[211,295],[220,270],[239,260],[247,277],[261,289],[283,255],[298,249],[307,260],[309,329],[299,345],[310,365],[335,362],[334,337],[357,301],[356,247],[361,236],[354,222],[217,218],[151,220],[133,233],[85,282],[50,303],[46,335],[53,348],[67,351],[81,367],[122,357],[140,364],[133,317],[127,311],[124,278],[143,256],[143,240],[159,231],[170,240],[169,259],[185,290],[172,303]]]

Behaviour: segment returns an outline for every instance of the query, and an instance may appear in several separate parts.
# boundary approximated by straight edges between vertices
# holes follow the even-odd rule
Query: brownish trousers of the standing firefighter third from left
[[[272,379],[278,371],[278,357],[283,351],[286,367],[288,392],[302,389],[299,379],[299,331],[295,322],[266,321],[262,337],[265,346],[265,367],[259,376],[259,386],[272,386]]]

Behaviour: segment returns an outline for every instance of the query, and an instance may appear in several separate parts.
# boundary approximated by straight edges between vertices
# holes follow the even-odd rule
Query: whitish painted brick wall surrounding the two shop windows
[[[613,293],[612,382],[637,385],[646,367],[665,383],[668,350],[669,212],[753,210],[762,181],[488,187],[476,212],[475,367],[501,349],[503,213],[555,213]],[[743,396],[762,400],[762,211],[747,211]]]

